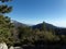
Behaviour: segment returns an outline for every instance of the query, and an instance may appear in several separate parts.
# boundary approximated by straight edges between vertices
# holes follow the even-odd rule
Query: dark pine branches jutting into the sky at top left
[[[12,7],[9,7],[7,4],[3,4],[3,2],[8,2],[10,0],[0,0],[2,4],[0,4],[0,14],[9,13],[12,11]]]

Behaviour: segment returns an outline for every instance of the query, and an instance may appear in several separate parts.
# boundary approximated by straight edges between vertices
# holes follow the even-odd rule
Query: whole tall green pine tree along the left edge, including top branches
[[[4,2],[10,0],[0,0],[0,42],[4,41],[8,45],[13,44],[13,24],[11,23],[10,17],[6,16],[6,13],[12,11],[12,7],[8,7]]]

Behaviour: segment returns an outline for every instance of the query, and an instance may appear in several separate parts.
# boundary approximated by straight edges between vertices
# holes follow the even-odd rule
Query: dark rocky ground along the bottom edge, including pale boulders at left
[[[11,46],[10,48],[8,48],[6,42],[1,42],[0,49],[66,49],[66,45],[37,45],[37,46],[23,45],[22,47]]]

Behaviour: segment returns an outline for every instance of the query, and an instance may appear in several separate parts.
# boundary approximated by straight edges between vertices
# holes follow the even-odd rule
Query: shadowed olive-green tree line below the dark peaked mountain
[[[32,27],[18,27],[20,42],[24,45],[66,44],[66,35],[56,35],[55,30],[47,30],[43,27],[41,30]]]

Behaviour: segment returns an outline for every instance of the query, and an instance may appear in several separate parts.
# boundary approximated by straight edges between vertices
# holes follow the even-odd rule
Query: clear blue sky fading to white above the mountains
[[[47,22],[66,27],[66,0],[13,0],[10,2],[13,11],[12,20],[25,24]]]

